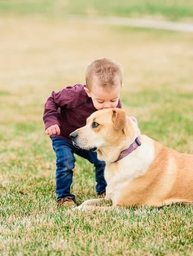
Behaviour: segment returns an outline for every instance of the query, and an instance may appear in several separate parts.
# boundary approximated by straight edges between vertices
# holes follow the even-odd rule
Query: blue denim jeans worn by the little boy
[[[74,153],[84,157],[95,166],[96,193],[105,192],[107,183],[104,179],[105,162],[97,159],[96,152],[75,148],[71,141],[61,138],[51,138],[53,149],[56,153],[56,195],[57,198],[71,196],[75,201],[75,195],[70,192],[73,168],[75,166]]]

